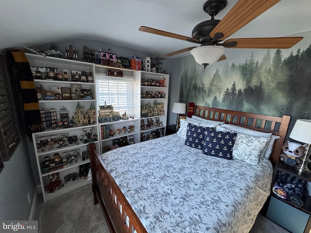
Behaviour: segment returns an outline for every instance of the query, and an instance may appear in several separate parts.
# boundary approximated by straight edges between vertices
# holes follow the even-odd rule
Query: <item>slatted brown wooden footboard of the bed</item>
[[[110,232],[147,233],[96,151],[89,144],[94,204],[99,203]]]

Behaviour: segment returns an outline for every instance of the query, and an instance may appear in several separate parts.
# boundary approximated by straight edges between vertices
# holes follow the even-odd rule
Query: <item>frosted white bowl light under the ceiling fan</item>
[[[225,48],[222,46],[205,45],[192,49],[190,53],[194,60],[198,64],[203,65],[205,69],[207,65],[214,64],[225,54]]]

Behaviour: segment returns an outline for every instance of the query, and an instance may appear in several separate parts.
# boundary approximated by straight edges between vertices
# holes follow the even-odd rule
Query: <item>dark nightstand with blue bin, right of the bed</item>
[[[285,172],[294,175],[306,182],[311,182],[310,173],[301,173],[282,162],[277,162],[272,177],[273,187],[279,172]],[[296,206],[288,200],[283,200],[271,192],[271,200],[269,202],[266,217],[276,222],[278,225],[293,233],[309,233],[311,230],[311,197],[307,196],[302,207]]]

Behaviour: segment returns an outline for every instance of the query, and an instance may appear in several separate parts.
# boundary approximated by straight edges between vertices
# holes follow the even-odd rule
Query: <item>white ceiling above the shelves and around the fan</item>
[[[68,39],[94,39],[161,55],[187,41],[139,32],[139,26],[191,37],[210,17],[206,0],[0,0],[0,50]],[[237,0],[215,19],[222,19]],[[275,37],[311,31],[311,1],[281,0],[229,38]],[[175,55],[189,55],[189,52]]]

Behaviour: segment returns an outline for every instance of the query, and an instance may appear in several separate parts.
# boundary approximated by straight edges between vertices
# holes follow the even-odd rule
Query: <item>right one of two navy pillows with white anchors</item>
[[[204,138],[202,152],[204,154],[232,160],[232,150],[237,133],[208,131]]]

